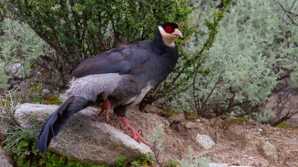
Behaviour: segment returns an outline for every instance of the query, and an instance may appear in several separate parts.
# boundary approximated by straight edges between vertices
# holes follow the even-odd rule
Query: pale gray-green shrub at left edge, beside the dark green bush
[[[7,90],[31,78],[36,73],[32,64],[52,50],[27,24],[5,18],[0,29],[0,89]]]

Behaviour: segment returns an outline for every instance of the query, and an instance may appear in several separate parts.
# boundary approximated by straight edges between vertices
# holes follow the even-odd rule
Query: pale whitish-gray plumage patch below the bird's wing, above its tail
[[[95,101],[98,94],[103,92],[103,97],[108,97],[117,87],[121,79],[118,73],[85,75],[73,78],[65,96],[85,97],[87,100]]]

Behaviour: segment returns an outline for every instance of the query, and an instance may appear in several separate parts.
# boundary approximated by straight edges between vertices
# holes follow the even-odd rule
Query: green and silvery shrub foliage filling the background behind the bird
[[[140,108],[158,100],[198,116],[250,116],[277,125],[298,113],[292,103],[298,95],[297,3],[0,0],[1,122],[17,126],[19,103],[48,104],[67,89],[75,64],[107,51],[115,38],[152,40],[156,27],[171,21],[184,35],[177,42],[179,62]],[[274,105],[265,108],[272,97]],[[19,164],[28,150],[37,155],[31,131],[16,127],[7,134],[6,149]]]

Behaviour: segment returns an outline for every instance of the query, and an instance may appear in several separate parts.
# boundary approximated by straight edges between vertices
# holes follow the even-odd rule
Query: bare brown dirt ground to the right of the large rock
[[[170,116],[154,105],[148,105],[143,113],[136,107],[130,108],[126,114],[131,125],[142,130],[143,136],[152,133],[155,123],[164,124],[164,151],[159,157],[161,162],[187,159],[188,146],[192,146],[195,155],[205,152],[210,156],[211,163],[260,167],[298,166],[298,127],[282,129],[260,125],[249,119],[245,120],[244,125],[244,120],[234,120],[228,115],[209,119],[187,117],[184,113],[174,118]],[[116,119],[110,118],[110,123],[123,128],[123,125],[115,123]],[[168,120],[171,120],[171,125]],[[209,136],[215,145],[204,149],[196,141],[197,134]],[[266,142],[274,146],[276,157],[265,155],[259,149]],[[269,152],[273,154],[274,150],[269,149]]]

